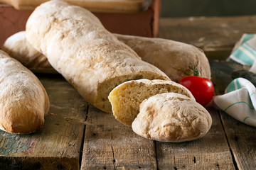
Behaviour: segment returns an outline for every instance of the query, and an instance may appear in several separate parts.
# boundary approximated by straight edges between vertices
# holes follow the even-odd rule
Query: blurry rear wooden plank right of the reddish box
[[[200,47],[210,59],[225,59],[243,33],[255,33],[256,16],[161,18],[159,37]]]

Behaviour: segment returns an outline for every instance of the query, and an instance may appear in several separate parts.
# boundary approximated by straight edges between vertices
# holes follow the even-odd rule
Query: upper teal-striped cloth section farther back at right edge
[[[228,60],[251,66],[249,71],[256,73],[256,35],[242,35],[242,38],[235,44]]]

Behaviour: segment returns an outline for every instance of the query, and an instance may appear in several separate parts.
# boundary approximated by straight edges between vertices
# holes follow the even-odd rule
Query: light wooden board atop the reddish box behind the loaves
[[[0,0],[16,9],[33,10],[49,0]],[[70,4],[82,6],[92,12],[138,13],[146,11],[152,0],[65,0]]]

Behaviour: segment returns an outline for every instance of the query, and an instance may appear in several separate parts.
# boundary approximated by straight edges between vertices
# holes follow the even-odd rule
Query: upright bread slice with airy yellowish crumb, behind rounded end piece
[[[124,125],[132,125],[139,113],[139,105],[145,99],[156,94],[174,92],[195,100],[186,87],[166,80],[139,79],[120,84],[108,96],[114,117]]]

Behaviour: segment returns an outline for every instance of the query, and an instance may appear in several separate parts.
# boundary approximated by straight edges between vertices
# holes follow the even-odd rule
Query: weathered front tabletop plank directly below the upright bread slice
[[[90,106],[81,169],[156,169],[154,141]]]

